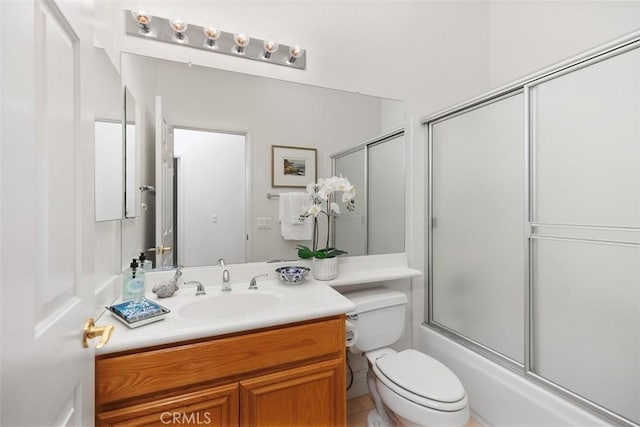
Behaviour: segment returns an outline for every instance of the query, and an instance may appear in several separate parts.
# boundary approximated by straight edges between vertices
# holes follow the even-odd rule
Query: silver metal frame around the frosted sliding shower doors
[[[535,177],[533,174],[536,171],[535,168],[535,157],[533,153],[533,141],[534,141],[534,127],[533,123],[535,111],[532,108],[532,93],[533,89],[546,81],[558,78],[560,76],[581,70],[590,65],[602,62],[604,60],[613,58],[615,56],[624,54],[626,52],[630,52],[636,49],[640,49],[640,31],[633,32],[624,37],[616,39],[612,42],[609,42],[605,45],[602,45],[598,48],[587,51],[581,55],[570,58],[566,61],[553,65],[551,67],[545,68],[537,73],[531,74],[527,77],[524,77],[520,80],[512,82],[508,85],[499,87],[491,92],[488,92],[484,95],[480,95],[478,97],[472,98],[466,102],[454,105],[448,109],[440,111],[438,113],[423,117],[420,120],[420,124],[425,126],[427,132],[427,159],[426,159],[426,167],[427,167],[427,185],[426,185],[426,200],[427,200],[427,210],[426,210],[426,221],[425,224],[425,240],[426,240],[426,257],[427,257],[427,292],[426,292],[426,304],[425,304],[425,322],[423,326],[433,329],[448,338],[464,345],[467,348],[491,359],[492,361],[524,376],[526,379],[533,381],[543,387],[554,391],[561,396],[569,399],[570,401],[590,410],[591,412],[604,417],[609,421],[613,421],[615,423],[621,423],[625,426],[638,426],[638,424],[633,421],[614,413],[613,411],[591,401],[588,400],[577,393],[563,387],[560,384],[554,383],[551,380],[548,380],[535,372],[532,371],[533,364],[533,242],[535,239],[540,238],[540,236],[534,233],[534,229],[536,227],[545,226],[545,227],[553,227],[553,226],[568,226],[568,227],[576,227],[579,225],[576,224],[546,224],[546,223],[537,223],[533,221],[534,218],[534,209],[536,207],[536,188],[535,188]],[[524,138],[523,138],[523,154],[524,154],[524,182],[523,182],[523,191],[524,191],[524,213],[525,213],[525,221],[523,226],[524,233],[524,274],[523,274],[523,287],[524,287],[524,364],[521,364],[511,358],[506,357],[505,355],[499,353],[496,350],[489,348],[486,345],[483,345],[470,337],[464,336],[461,333],[445,326],[439,324],[435,321],[433,317],[433,232],[432,228],[434,225],[434,217],[433,217],[433,126],[438,122],[441,122],[446,119],[453,118],[460,114],[464,114],[470,111],[473,111],[477,108],[481,108],[483,106],[489,105],[494,102],[499,102],[505,98],[523,93],[524,95],[524,105],[523,105],[523,113],[524,113]],[[606,228],[606,227],[605,227]],[[637,227],[628,227],[628,229],[635,229]],[[620,242],[611,242],[611,243],[620,243]],[[638,245],[634,245],[638,246]]]

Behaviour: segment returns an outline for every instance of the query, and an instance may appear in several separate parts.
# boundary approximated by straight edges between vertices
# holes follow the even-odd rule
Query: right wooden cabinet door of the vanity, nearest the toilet
[[[344,426],[344,363],[340,359],[240,382],[241,426]]]

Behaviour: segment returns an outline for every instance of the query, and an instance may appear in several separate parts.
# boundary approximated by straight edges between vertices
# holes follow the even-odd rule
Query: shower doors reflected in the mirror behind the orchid
[[[362,206],[336,217],[336,246],[349,248],[352,255],[404,252],[404,131],[381,135],[332,158],[334,174],[358,183],[356,204]]]

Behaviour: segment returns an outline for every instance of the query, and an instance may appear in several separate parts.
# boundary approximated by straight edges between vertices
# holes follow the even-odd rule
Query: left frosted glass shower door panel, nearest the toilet
[[[431,126],[432,323],[524,364],[522,92]]]

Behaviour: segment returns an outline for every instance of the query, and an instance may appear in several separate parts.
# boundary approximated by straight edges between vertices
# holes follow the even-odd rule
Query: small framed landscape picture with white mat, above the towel
[[[316,180],[315,148],[271,146],[271,186],[306,187]]]

